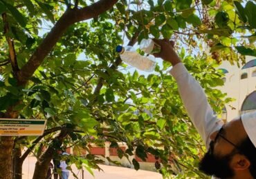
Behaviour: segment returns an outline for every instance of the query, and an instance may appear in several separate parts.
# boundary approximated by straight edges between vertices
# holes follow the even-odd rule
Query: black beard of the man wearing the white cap
[[[232,178],[234,171],[230,168],[230,160],[233,154],[218,157],[213,154],[214,143],[210,143],[210,149],[199,162],[199,170],[203,173],[217,178]]]

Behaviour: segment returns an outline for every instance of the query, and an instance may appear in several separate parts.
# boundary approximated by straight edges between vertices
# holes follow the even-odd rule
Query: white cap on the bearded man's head
[[[241,115],[241,122],[246,129],[246,133],[256,147],[256,112],[248,112]]]

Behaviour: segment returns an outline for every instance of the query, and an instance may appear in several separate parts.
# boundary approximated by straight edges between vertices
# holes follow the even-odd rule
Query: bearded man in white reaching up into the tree
[[[199,83],[181,63],[174,51],[174,41],[154,42],[161,46],[161,52],[154,56],[172,63],[170,74],[176,79],[188,115],[208,148],[199,169],[217,178],[256,178],[256,112],[223,125],[214,116]]]

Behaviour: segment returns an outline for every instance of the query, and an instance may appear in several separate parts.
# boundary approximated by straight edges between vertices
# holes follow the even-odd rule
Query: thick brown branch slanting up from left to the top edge
[[[30,56],[28,63],[26,63],[26,65],[24,65],[18,72],[18,84],[26,85],[28,79],[34,74],[35,70],[37,70],[51,50],[53,50],[54,45],[70,25],[79,21],[98,17],[99,14],[106,12],[113,7],[117,1],[118,0],[100,0],[85,8],[68,8],[62,17],[60,17],[59,21],[55,23],[51,32],[47,34],[37,50],[35,50],[34,54]]]

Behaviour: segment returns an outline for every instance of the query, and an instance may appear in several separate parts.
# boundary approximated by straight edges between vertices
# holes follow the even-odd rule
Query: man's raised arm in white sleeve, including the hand
[[[222,121],[214,116],[201,85],[181,63],[181,59],[174,50],[174,41],[158,39],[154,39],[154,41],[161,45],[161,52],[154,54],[154,56],[172,63],[173,67],[170,73],[176,79],[185,109],[208,147],[210,134],[223,125]]]

